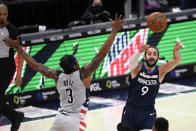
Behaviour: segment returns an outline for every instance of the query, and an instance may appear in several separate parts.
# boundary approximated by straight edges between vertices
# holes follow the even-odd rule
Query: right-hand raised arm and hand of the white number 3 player
[[[92,61],[85,66],[82,67],[82,78],[86,79],[87,77],[91,76],[92,72],[94,72],[104,59],[104,57],[107,55],[108,51],[110,50],[117,32],[121,29],[122,26],[125,25],[124,18],[121,19],[122,15],[119,17],[117,14],[115,15],[115,20],[113,21],[110,19],[112,24],[112,32],[110,33],[108,39],[105,41],[99,52],[96,54],[96,56],[92,59]]]

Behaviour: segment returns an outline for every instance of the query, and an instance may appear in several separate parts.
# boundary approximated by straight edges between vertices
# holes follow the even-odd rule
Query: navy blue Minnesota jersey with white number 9
[[[155,98],[159,90],[158,66],[150,73],[147,72],[144,63],[138,75],[129,79],[130,87],[127,98],[127,107],[136,109],[154,109]]]

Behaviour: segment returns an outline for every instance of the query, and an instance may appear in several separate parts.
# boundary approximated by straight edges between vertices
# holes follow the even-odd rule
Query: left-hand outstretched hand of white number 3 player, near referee
[[[3,41],[10,48],[17,48],[17,47],[20,46],[20,41],[19,40],[12,40],[12,38],[10,38],[9,36],[5,37],[3,39]]]

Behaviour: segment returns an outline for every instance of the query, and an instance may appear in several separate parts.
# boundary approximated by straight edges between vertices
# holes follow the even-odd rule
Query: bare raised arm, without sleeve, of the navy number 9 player
[[[181,49],[181,41],[178,42],[173,49],[173,59],[168,61],[165,64],[160,65],[159,67],[159,73],[162,75],[165,75],[169,71],[173,70],[182,60],[181,54],[180,54],[180,49]]]

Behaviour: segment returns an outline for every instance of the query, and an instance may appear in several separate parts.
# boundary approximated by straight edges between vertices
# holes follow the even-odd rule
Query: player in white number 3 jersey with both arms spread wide
[[[60,59],[60,66],[63,72],[58,69],[50,69],[47,66],[37,63],[32,57],[26,54],[19,46],[18,40],[6,37],[4,41],[11,48],[16,48],[17,52],[23,56],[29,66],[42,73],[44,76],[55,81],[60,98],[59,113],[50,131],[84,131],[80,126],[80,110],[86,100],[86,88],[90,87],[91,74],[99,67],[100,63],[110,50],[115,40],[117,32],[125,25],[124,19],[115,15],[115,21],[110,19],[112,32],[105,41],[100,51],[81,69],[78,61],[73,55],[65,55]]]

